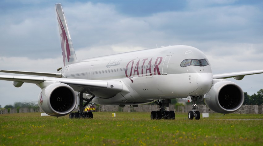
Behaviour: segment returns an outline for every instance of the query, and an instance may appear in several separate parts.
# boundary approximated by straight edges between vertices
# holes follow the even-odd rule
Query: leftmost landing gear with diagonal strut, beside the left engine
[[[79,97],[79,111],[78,112],[72,112],[69,114],[69,119],[79,119],[79,118],[93,118],[93,113],[92,112],[84,112],[84,108],[86,107],[86,105],[88,105],[90,103],[90,101],[92,99],[94,99],[94,95],[90,98],[90,99],[86,99],[83,98],[83,92],[80,93],[80,97]],[[83,100],[87,101],[84,105],[83,105]]]

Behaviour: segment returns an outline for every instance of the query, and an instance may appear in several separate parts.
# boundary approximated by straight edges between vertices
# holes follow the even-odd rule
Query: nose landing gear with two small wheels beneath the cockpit
[[[188,119],[189,120],[193,120],[195,118],[195,120],[199,120],[200,119],[200,112],[197,111],[198,107],[196,105],[196,101],[202,101],[204,98],[204,96],[191,96],[191,100],[192,100],[192,111],[188,112]]]

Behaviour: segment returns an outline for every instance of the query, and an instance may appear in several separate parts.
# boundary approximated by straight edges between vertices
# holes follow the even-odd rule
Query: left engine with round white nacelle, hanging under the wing
[[[74,110],[76,104],[75,91],[64,83],[48,85],[38,98],[39,107],[50,116],[65,116]]]

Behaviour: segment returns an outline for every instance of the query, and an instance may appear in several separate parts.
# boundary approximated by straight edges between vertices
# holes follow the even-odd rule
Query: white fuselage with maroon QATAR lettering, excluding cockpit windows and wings
[[[181,67],[185,59],[206,59],[206,56],[194,47],[169,46],[81,60],[63,67],[61,73],[63,78],[123,84],[123,91],[114,97],[92,100],[98,104],[140,104],[206,94],[212,86],[211,66]]]

